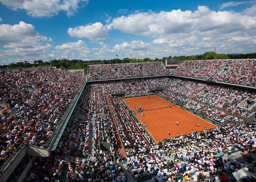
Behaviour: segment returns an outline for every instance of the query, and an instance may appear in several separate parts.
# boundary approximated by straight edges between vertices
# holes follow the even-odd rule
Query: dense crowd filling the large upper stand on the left
[[[55,68],[0,71],[0,101],[9,104],[0,116],[1,165],[20,143],[45,145],[83,81]]]

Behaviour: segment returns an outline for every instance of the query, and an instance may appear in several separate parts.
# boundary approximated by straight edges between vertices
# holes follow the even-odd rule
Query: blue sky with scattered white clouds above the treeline
[[[256,52],[256,0],[0,0],[0,64]]]

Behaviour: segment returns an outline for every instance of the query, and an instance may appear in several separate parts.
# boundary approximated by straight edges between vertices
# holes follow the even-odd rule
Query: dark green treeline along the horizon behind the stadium
[[[11,63],[9,65],[3,65],[0,66],[0,69],[14,69],[14,68],[25,68],[25,67],[46,67],[46,66],[52,66],[60,68],[61,70],[76,70],[76,69],[84,69],[84,72],[88,72],[87,67],[90,64],[115,64],[115,63],[141,63],[141,62],[163,62],[165,63],[166,59],[178,59],[180,61],[184,60],[209,60],[209,59],[252,59],[256,58],[256,52],[252,54],[217,54],[215,52],[205,52],[203,55],[193,55],[193,56],[168,56],[163,57],[162,59],[150,59],[150,58],[144,58],[142,59],[130,59],[130,58],[124,58],[124,59],[110,59],[109,60],[90,60],[90,61],[83,61],[80,59],[54,59],[54,60],[48,60],[48,61],[42,61],[37,60],[34,61],[34,63],[29,63],[28,61],[24,62],[17,62],[17,63]]]

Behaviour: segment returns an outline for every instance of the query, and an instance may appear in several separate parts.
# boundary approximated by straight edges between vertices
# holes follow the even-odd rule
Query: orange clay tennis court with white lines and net
[[[144,116],[136,114],[140,119],[142,124],[146,123],[147,130],[154,137],[157,142],[162,142],[165,138],[177,137],[178,133],[181,135],[189,134],[194,131],[203,131],[206,127],[207,129],[215,128],[216,125],[196,116],[178,106],[168,102],[165,99],[160,98],[157,95],[143,96],[141,98],[127,98],[124,99],[125,102],[131,107],[133,111],[136,112],[135,107],[139,108],[139,104],[142,106]],[[155,107],[164,107],[155,110]],[[169,108],[172,106],[172,108]],[[149,109],[153,108],[153,110]],[[145,111],[145,109],[149,109]],[[178,126],[176,126],[176,121],[178,120]],[[199,127],[195,125],[199,124]],[[168,130],[170,130],[170,136],[168,135]]]

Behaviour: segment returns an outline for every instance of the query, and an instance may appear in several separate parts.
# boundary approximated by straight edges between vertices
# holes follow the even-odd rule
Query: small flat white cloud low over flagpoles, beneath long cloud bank
[[[131,43],[124,42],[122,44],[116,44],[114,46],[114,49],[116,50],[133,50],[133,51],[142,51],[150,48],[151,48],[151,44],[144,43],[143,41],[140,41],[140,40],[136,40],[136,41],[133,40]]]

